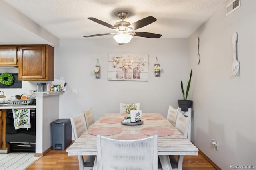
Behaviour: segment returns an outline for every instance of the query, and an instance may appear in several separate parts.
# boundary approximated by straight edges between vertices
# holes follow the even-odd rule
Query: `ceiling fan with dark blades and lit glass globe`
[[[138,32],[134,31],[138,28],[142,28],[144,26],[147,26],[148,24],[151,24],[152,22],[156,21],[156,18],[153,16],[148,16],[146,18],[143,18],[141,20],[138,20],[132,24],[130,24],[127,21],[124,21],[125,18],[128,17],[131,13],[129,11],[117,11],[115,12],[115,15],[118,16],[122,21],[116,22],[114,26],[111,24],[108,24],[104,21],[98,20],[93,17],[89,17],[89,20],[92,20],[94,22],[97,22],[98,24],[101,24],[103,26],[106,26],[108,28],[111,28],[112,30],[116,31],[115,33],[104,33],[104,34],[95,34],[90,36],[84,36],[84,37],[94,37],[94,36],[104,36],[104,35],[114,35],[114,39],[116,42],[119,43],[119,45],[123,45],[125,43],[130,42],[133,36],[139,36],[139,37],[146,37],[146,38],[160,38],[161,34],[155,34],[150,32]]]

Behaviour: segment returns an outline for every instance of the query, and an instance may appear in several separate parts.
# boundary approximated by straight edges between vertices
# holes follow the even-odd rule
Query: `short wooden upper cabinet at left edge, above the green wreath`
[[[0,66],[18,66],[17,45],[0,45]]]

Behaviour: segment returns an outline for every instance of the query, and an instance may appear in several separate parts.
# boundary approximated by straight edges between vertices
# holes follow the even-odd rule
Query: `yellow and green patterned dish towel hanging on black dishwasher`
[[[12,109],[15,129],[30,128],[30,109]]]

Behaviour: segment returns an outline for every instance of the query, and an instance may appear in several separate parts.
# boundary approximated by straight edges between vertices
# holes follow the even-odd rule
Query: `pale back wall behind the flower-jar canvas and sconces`
[[[103,113],[120,112],[120,102],[141,103],[143,112],[166,116],[169,105],[178,107],[180,81],[188,81],[187,39],[134,38],[119,46],[110,39],[60,40],[55,48],[55,78],[64,76],[67,91],[60,95],[60,118],[77,116],[92,107],[95,119]],[[108,81],[108,54],[148,54],[148,81]],[[163,68],[154,77],[156,57]],[[92,69],[99,59],[101,78]],[[77,89],[77,95],[71,95]]]

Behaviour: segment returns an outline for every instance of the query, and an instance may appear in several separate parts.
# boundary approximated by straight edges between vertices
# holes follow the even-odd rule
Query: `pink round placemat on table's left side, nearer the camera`
[[[99,128],[93,128],[88,131],[89,134],[92,135],[102,135],[102,136],[109,136],[113,134],[121,133],[122,129],[117,127],[99,127]]]

